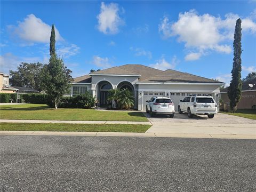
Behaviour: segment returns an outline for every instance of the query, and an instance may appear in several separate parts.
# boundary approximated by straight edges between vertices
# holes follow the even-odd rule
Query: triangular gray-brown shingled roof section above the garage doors
[[[155,76],[149,77],[144,81],[144,83],[150,82],[166,82],[166,83],[222,83],[214,81],[213,79],[200,77],[188,73],[182,73],[180,71],[167,69],[162,73],[159,73]]]

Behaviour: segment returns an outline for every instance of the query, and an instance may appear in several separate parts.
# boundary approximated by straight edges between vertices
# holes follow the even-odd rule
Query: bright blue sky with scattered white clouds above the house
[[[1,1],[1,71],[47,63],[54,23],[73,77],[139,63],[228,84],[238,18],[245,77],[256,70],[255,1]]]

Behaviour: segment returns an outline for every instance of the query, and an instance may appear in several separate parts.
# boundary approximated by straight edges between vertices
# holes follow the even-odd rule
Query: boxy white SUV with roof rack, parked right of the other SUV
[[[217,106],[213,97],[190,96],[180,100],[178,110],[179,114],[188,113],[190,118],[194,115],[208,115],[209,118],[213,118],[214,114],[218,113]]]

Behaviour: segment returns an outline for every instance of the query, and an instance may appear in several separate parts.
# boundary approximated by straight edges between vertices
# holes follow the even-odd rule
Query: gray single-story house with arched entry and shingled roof
[[[143,66],[123,65],[77,77],[72,83],[70,96],[89,91],[107,106],[110,89],[130,89],[134,94],[134,108],[146,109],[146,101],[153,96],[170,97],[178,110],[178,102],[187,95],[211,95],[219,102],[220,85],[224,83],[209,78],[167,69],[165,71]]]

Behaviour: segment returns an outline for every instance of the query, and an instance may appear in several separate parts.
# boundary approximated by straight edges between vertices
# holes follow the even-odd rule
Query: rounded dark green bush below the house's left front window
[[[62,97],[58,108],[91,108],[94,107],[95,98],[92,94],[85,92],[85,94],[77,95],[75,97]]]

